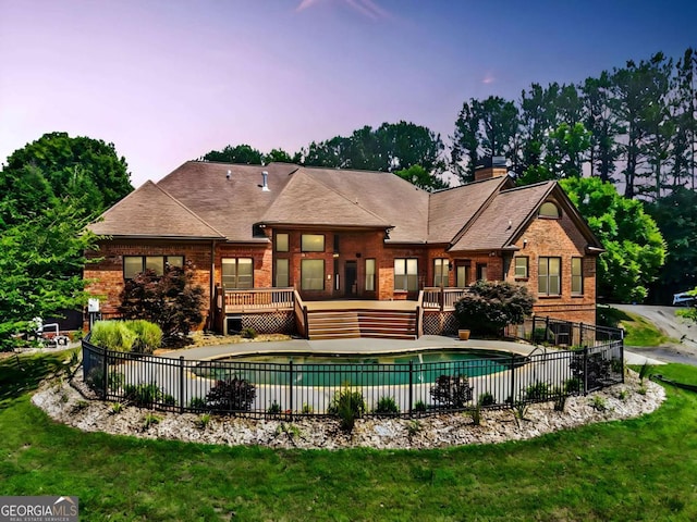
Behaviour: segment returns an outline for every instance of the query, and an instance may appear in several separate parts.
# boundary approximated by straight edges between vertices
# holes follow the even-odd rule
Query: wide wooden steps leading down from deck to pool
[[[307,326],[309,339],[417,337],[413,310],[315,310],[307,313]]]

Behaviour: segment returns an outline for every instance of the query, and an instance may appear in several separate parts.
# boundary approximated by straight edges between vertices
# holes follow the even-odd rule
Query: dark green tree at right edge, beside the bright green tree
[[[665,239],[665,265],[651,286],[658,302],[697,286],[697,192],[680,187],[647,207]]]

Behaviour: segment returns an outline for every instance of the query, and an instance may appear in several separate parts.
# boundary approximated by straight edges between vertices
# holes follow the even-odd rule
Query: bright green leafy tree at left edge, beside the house
[[[0,235],[0,350],[23,343],[34,318],[60,315],[87,301],[84,252],[95,249],[81,212],[71,206],[45,209]]]

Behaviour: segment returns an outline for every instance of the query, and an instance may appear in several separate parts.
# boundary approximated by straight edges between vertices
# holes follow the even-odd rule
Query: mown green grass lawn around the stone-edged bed
[[[0,495],[77,495],[81,520],[697,520],[697,394],[640,419],[424,451],[271,450],[82,433],[30,388],[65,355],[0,362]],[[697,384],[697,368],[660,372]]]

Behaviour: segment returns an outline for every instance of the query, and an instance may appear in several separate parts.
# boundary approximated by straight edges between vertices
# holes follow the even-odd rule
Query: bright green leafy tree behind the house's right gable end
[[[665,261],[663,237],[644,204],[597,177],[566,178],[560,185],[606,249],[598,259],[599,297],[643,301]]]

